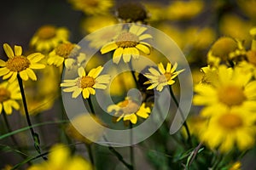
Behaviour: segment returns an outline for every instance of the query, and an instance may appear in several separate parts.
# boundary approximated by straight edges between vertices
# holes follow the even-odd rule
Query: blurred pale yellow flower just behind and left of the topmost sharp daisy
[[[102,48],[103,45],[108,42],[113,41],[113,37],[117,37],[122,31],[121,25],[115,25],[110,27],[105,27],[101,31],[96,31],[85,38],[90,40],[90,47],[92,48]]]

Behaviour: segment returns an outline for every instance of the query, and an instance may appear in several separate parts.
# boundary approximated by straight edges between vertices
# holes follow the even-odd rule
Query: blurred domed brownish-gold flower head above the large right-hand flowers
[[[212,44],[207,53],[207,63],[218,66],[220,64],[230,64],[232,59],[239,58],[245,54],[245,49],[241,42],[232,37],[220,37]]]

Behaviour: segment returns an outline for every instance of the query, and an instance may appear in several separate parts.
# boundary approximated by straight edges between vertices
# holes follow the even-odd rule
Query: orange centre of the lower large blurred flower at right
[[[226,113],[218,118],[218,124],[228,130],[242,126],[242,119],[234,113]]]

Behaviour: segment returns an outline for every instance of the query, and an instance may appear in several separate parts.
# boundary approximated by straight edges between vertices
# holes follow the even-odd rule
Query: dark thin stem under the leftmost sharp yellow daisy
[[[22,97],[22,101],[23,101],[23,106],[24,106],[24,111],[25,111],[25,115],[26,115],[26,122],[29,126],[29,129],[30,129],[30,132],[32,134],[32,139],[34,141],[34,147],[35,149],[38,151],[38,154],[41,154],[41,148],[40,148],[40,142],[39,142],[39,136],[38,136],[38,133],[35,133],[33,127],[32,127],[32,122],[30,120],[30,116],[29,116],[29,113],[28,113],[28,109],[27,109],[27,105],[26,105],[26,96],[25,96],[25,91],[24,91],[24,88],[23,88],[23,82],[22,82],[22,79],[20,77],[20,74],[17,75],[18,77],[18,82],[19,82],[19,86],[20,86],[20,94],[21,94],[21,97]],[[46,157],[42,156],[42,158],[44,160],[47,160]]]

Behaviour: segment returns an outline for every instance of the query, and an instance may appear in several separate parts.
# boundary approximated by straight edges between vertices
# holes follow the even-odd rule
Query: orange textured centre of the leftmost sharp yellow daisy
[[[24,56],[15,56],[14,58],[9,58],[6,62],[6,67],[9,71],[20,72],[26,70],[30,65],[30,61]]]

